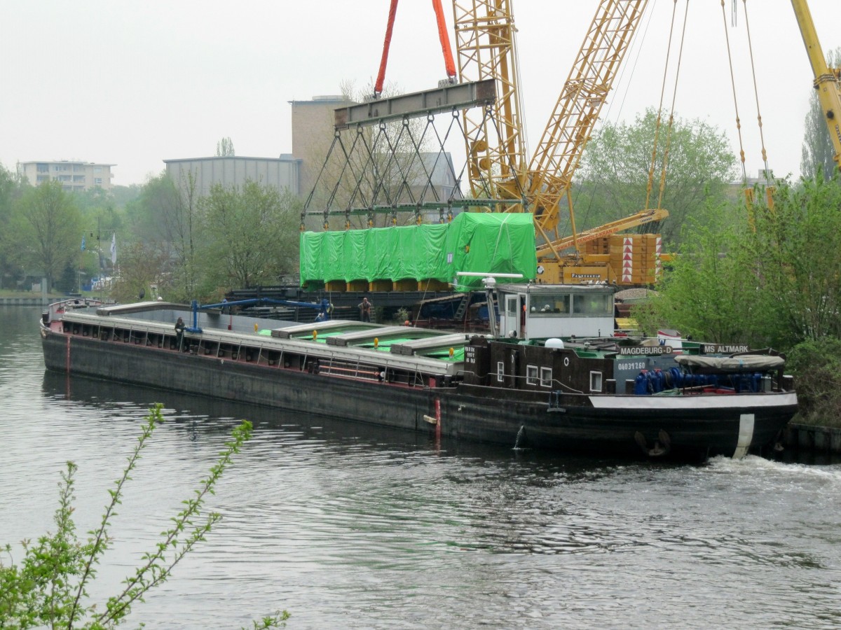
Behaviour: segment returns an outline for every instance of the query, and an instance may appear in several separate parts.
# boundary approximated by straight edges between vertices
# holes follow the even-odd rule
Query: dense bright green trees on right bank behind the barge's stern
[[[757,195],[757,198],[761,198]],[[732,230],[688,234],[660,297],[634,312],[654,326],[713,341],[790,349],[841,338],[841,186],[778,186],[774,207],[754,207]]]

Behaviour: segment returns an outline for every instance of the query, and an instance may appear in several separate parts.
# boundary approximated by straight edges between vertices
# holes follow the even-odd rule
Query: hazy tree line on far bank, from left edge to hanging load
[[[95,276],[114,281],[121,302],[220,298],[231,288],[272,284],[298,262],[300,201],[246,181],[201,197],[192,176],[166,173],[142,186],[66,192],[30,186],[0,165],[0,288],[77,291]],[[118,255],[112,263],[115,236]]]

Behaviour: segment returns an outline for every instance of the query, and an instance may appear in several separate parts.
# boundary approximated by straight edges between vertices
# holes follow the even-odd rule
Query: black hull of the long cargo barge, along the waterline
[[[787,404],[793,395],[776,393],[753,396],[756,407],[746,406],[742,396],[718,396],[730,402],[711,409],[703,408],[701,396],[694,397],[699,404],[681,409],[658,407],[666,404],[660,401],[629,408],[641,396],[599,396],[612,401],[611,409],[595,407],[595,396],[586,395],[563,396],[560,406],[550,407],[549,396],[540,392],[464,384],[410,387],[68,336],[48,328],[42,328],[42,336],[48,370],[510,447],[638,456],[643,454],[640,436],[655,446],[664,432],[669,456],[732,456],[746,414],[753,422],[748,444],[756,450],[772,446],[796,411],[796,402]],[[435,417],[440,417],[437,426],[431,422]]]

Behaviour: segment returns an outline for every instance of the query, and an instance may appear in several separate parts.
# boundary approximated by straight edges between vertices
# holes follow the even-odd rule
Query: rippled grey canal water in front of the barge
[[[0,543],[52,526],[79,465],[95,527],[153,402],[168,417],[93,587],[114,594],[214,463],[223,520],[131,627],[841,627],[841,465],[515,452],[45,373],[40,309],[0,307]],[[383,402],[387,404],[387,402]],[[6,558],[3,561],[7,561]],[[102,598],[100,598],[102,599]]]

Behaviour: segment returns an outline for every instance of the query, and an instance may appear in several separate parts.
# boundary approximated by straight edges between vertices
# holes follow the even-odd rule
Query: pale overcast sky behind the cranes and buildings
[[[676,2],[682,16],[687,0]],[[733,0],[724,4],[722,18],[720,0],[688,3],[675,110],[726,131],[738,153],[727,24],[748,175],[763,167],[749,24],[770,167],[778,176],[798,176],[812,71],[791,2],[748,0],[746,20],[738,0],[735,26]],[[841,2],[809,5],[823,50],[841,46]],[[0,6],[0,162],[10,169],[18,160],[113,163],[114,184],[130,185],[160,172],[161,160],[214,155],[224,136],[237,155],[291,152],[289,101],[337,94],[341,81],[363,87],[376,76],[389,0],[4,0]],[[513,0],[532,150],[596,6],[595,0]],[[639,48],[628,55],[602,119],[632,119],[658,105],[674,6],[650,0]],[[387,81],[415,92],[436,87],[444,74],[431,3],[403,0]],[[671,92],[669,85],[667,104]]]

